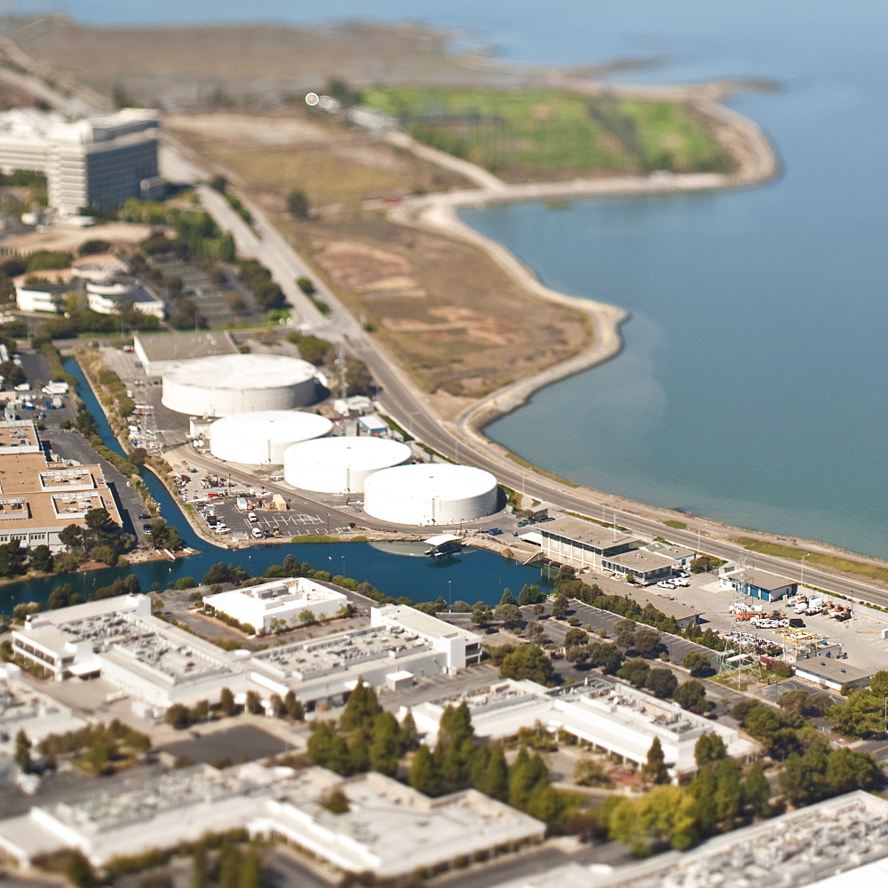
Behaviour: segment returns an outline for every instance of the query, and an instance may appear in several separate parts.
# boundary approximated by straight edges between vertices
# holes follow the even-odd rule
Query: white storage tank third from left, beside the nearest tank
[[[286,450],[283,477],[302,490],[359,494],[374,472],[409,459],[410,448],[388,438],[319,438]]]

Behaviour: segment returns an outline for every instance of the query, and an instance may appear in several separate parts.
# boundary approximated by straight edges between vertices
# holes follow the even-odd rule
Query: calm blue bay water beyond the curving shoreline
[[[201,22],[205,8],[6,4],[96,24]],[[369,17],[356,0],[212,10],[214,21]],[[635,81],[781,82],[733,101],[780,150],[785,174],[768,186],[465,213],[552,287],[632,313],[619,358],[489,431],[597,488],[888,556],[883,0],[378,0],[372,15],[459,28],[462,44],[508,59],[661,60],[621,75]]]

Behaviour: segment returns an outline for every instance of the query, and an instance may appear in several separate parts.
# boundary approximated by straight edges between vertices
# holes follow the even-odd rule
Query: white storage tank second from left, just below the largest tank
[[[210,453],[229,463],[281,465],[287,448],[322,438],[332,428],[326,416],[299,410],[235,413],[210,425]]]

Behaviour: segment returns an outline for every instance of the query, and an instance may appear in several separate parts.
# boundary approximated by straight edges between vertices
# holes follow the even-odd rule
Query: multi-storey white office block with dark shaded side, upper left
[[[113,210],[156,180],[158,125],[158,113],[145,108],[73,122],[14,108],[0,115],[0,170],[44,173],[49,204],[62,216]]]

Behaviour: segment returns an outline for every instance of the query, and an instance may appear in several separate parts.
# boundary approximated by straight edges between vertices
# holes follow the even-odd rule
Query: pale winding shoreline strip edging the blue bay
[[[554,84],[553,84],[554,85]],[[612,89],[616,84],[601,84],[583,81],[563,82],[559,86],[571,91],[583,91],[592,94],[603,86]],[[609,505],[624,511],[637,513],[639,516],[654,516],[656,519],[679,519],[693,523],[696,527],[705,528],[702,532],[708,538],[732,540],[736,535],[751,534],[763,541],[780,542],[788,537],[774,531],[760,530],[750,527],[734,527],[716,519],[692,515],[672,510],[666,506],[655,506],[639,503],[623,496],[606,491],[586,487],[581,482],[560,478],[553,475],[543,466],[529,462],[524,457],[511,451],[485,434],[484,430],[496,419],[522,407],[536,392],[549,385],[554,385],[575,376],[585,370],[597,367],[611,360],[622,352],[623,341],[620,334],[622,324],[630,318],[630,313],[617,305],[610,305],[589,298],[569,296],[546,287],[535,271],[527,266],[519,257],[502,243],[480,234],[463,222],[458,210],[467,206],[483,209],[489,203],[543,202],[547,200],[583,200],[605,196],[631,196],[633,194],[681,194],[692,191],[727,190],[764,185],[781,173],[781,165],[774,147],[767,139],[765,131],[753,120],[741,115],[733,108],[726,107],[720,101],[743,88],[742,83],[718,82],[700,84],[694,87],[671,88],[681,91],[682,98],[703,115],[713,128],[716,138],[722,142],[738,162],[737,170],[732,173],[687,173],[668,174],[663,176],[654,173],[652,176],[635,176],[600,179],[575,179],[572,181],[529,183],[509,185],[493,177],[488,170],[474,167],[473,181],[479,184],[477,189],[464,189],[448,194],[431,194],[409,198],[387,212],[387,218],[393,222],[433,234],[454,237],[461,241],[480,247],[492,258],[505,274],[519,284],[528,293],[545,301],[567,305],[583,313],[593,330],[591,345],[582,352],[575,354],[566,361],[559,361],[547,369],[543,369],[531,377],[516,380],[509,385],[491,392],[470,405],[456,417],[455,423],[448,423],[452,431],[461,436],[467,443],[474,444],[512,470],[524,466],[527,472],[537,475],[549,485],[563,488],[565,492],[584,492],[598,497]],[[642,97],[665,98],[661,87],[644,87],[630,84],[627,87],[633,95]],[[671,96],[670,98],[676,98]],[[412,140],[411,140],[412,141]],[[403,144],[401,147],[413,150],[414,147]],[[429,160],[439,160],[456,169],[456,158],[427,146],[416,144],[422,155]],[[432,155],[441,155],[440,158]],[[459,171],[473,164],[457,161]],[[491,181],[493,179],[493,181]],[[831,543],[793,538],[794,545],[799,549],[820,551],[837,556],[850,556],[863,562],[884,565],[888,562],[876,556],[866,555],[842,549]],[[884,584],[869,580],[877,588]]]

